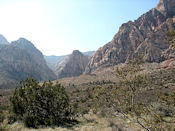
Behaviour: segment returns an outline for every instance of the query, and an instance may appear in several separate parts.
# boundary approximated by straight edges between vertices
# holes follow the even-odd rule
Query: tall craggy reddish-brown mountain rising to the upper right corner
[[[171,30],[175,30],[175,1],[160,0],[156,8],[123,24],[113,39],[94,53],[85,73],[125,63],[141,53],[147,62],[175,58],[167,42],[167,32]]]

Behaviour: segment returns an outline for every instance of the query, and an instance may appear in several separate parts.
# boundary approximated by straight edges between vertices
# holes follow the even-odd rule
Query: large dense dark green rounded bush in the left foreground
[[[39,84],[28,78],[20,82],[10,101],[10,120],[22,120],[27,127],[63,125],[73,119],[69,97],[60,84]]]

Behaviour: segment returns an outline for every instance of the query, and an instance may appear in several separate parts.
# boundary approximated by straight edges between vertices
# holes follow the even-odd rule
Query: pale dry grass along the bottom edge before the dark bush
[[[141,131],[141,128],[130,121],[126,121],[120,117],[103,118],[98,117],[95,114],[86,114],[79,118],[81,123],[72,127],[53,127],[53,128],[40,128],[40,129],[29,129],[25,128],[22,123],[14,123],[8,125],[8,131]]]

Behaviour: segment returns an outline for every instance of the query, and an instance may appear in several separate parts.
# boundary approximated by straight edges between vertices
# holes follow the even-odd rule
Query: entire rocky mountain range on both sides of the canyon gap
[[[43,56],[24,38],[9,43],[0,35],[0,88],[14,87],[19,80],[30,76],[43,81],[90,74],[127,63],[138,54],[144,54],[147,62],[175,59],[175,50],[167,40],[167,32],[173,30],[175,2],[160,0],[134,22],[122,24],[113,39],[95,52],[75,50],[65,56]]]

